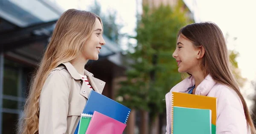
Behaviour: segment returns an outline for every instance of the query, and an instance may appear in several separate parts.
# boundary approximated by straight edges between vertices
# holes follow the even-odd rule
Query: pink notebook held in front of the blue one
[[[85,134],[122,134],[126,124],[94,111]]]

